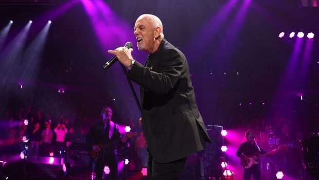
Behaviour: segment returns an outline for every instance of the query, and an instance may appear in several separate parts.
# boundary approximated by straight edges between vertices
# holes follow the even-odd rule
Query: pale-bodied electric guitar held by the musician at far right
[[[258,165],[259,164],[259,158],[264,157],[264,156],[269,156],[269,155],[274,155],[276,154],[279,150],[286,150],[288,147],[287,146],[279,146],[279,148],[274,149],[272,151],[269,151],[264,154],[259,154],[258,152],[255,152],[254,154],[251,154],[248,157],[248,160],[246,161],[244,158],[240,158],[240,164],[244,169],[249,169],[253,165]]]

